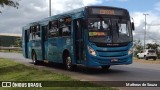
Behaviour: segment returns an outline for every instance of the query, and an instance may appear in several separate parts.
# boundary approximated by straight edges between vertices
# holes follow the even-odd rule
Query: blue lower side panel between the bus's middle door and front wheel
[[[51,62],[63,63],[63,51],[71,50],[71,39],[70,37],[55,37],[48,39],[47,48],[47,59]],[[47,46],[47,45],[46,45]]]

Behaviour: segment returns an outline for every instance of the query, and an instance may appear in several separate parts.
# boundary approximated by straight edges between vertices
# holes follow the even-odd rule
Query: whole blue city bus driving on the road
[[[29,23],[22,31],[23,55],[34,64],[62,63],[67,70],[131,64],[130,19],[123,8],[86,6]]]

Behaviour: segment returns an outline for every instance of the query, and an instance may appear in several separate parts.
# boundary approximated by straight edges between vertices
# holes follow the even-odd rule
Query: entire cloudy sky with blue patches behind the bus
[[[19,0],[14,0],[19,1]],[[0,7],[0,34],[19,34],[30,22],[49,16],[49,0],[20,0],[19,8]],[[134,19],[134,40],[144,40],[145,16],[148,42],[160,43],[160,0],[52,0],[52,15],[87,5],[126,8]]]

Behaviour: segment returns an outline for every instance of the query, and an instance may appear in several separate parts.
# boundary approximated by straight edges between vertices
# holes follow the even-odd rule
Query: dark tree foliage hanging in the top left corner
[[[0,6],[1,7],[11,6],[11,7],[14,7],[14,8],[18,8],[19,3],[15,2],[15,1],[12,1],[12,0],[0,0]],[[0,13],[2,13],[2,12],[0,11]]]

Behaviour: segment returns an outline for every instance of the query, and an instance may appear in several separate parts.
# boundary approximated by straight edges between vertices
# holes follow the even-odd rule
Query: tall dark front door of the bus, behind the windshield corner
[[[75,60],[77,64],[81,64],[83,60],[83,34],[82,34],[82,23],[81,19],[74,20],[74,31],[75,31]]]

